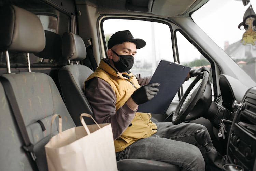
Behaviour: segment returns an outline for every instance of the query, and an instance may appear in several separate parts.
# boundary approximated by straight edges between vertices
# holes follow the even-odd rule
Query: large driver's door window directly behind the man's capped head
[[[161,59],[173,62],[170,27],[163,23],[130,20],[108,19],[103,22],[106,44],[112,34],[121,30],[130,30],[134,38],[146,41],[146,46],[138,49],[134,57],[131,72],[152,76]]]

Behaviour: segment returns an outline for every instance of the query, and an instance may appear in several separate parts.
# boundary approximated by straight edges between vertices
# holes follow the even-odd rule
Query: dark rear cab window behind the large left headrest
[[[41,1],[31,2],[31,0],[22,2],[14,0],[10,3],[36,14],[40,19],[44,30],[54,32],[60,37],[64,32],[70,31],[70,17],[46,3]],[[67,64],[67,61],[62,59],[61,53],[59,57],[56,57],[57,59],[42,59],[38,57],[38,54],[34,53],[29,53],[29,57],[31,67],[45,67]],[[26,53],[9,52],[9,59],[11,67],[27,67]],[[0,52],[0,67],[6,67],[6,57],[5,53],[3,52]]]

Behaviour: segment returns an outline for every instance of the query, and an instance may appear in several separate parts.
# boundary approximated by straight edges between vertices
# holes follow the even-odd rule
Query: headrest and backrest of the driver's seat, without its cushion
[[[82,38],[71,32],[62,36],[62,56],[67,60],[79,61],[86,57],[86,48]],[[59,83],[67,109],[76,126],[81,126],[79,116],[88,113],[93,116],[90,104],[83,92],[84,81],[93,71],[84,65],[70,64],[59,70]],[[85,118],[87,124],[94,124]]]

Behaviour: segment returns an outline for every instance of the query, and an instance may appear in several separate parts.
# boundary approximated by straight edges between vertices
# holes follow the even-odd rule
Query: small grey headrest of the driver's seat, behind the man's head
[[[86,47],[79,35],[65,32],[62,36],[62,56],[69,60],[83,60],[86,57]]]

